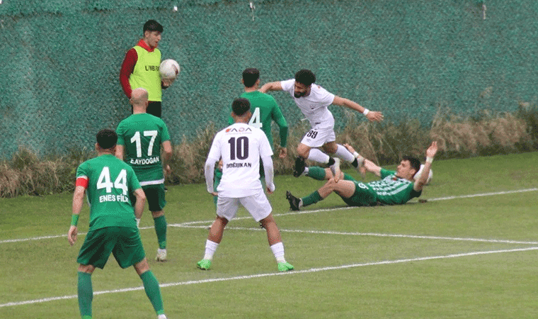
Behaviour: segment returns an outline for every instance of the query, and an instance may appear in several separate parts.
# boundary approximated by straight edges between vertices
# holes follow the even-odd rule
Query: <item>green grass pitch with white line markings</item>
[[[168,318],[537,318],[538,153],[433,163],[404,206],[348,208],[331,195],[290,212],[285,191],[321,186],[279,176],[270,196],[294,272],[277,272],[265,231],[231,221],[212,270],[196,268],[214,218],[205,185],[169,187],[168,258],[141,223]],[[349,171],[353,176],[354,172]],[[0,318],[79,318],[71,194],[0,199]],[[79,221],[88,228],[88,206]],[[156,318],[134,269],[93,274],[94,318]]]

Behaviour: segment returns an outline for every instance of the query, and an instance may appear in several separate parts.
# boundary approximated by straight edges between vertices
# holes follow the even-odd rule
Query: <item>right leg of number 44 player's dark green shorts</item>
[[[116,243],[112,254],[122,268],[131,267],[146,257],[140,233],[137,228],[115,227]]]

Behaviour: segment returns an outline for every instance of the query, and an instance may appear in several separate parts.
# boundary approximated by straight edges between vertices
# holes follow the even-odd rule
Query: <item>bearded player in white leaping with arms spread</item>
[[[311,130],[304,135],[297,146],[299,157],[295,159],[294,177],[303,174],[304,160],[310,159],[314,162],[328,164],[333,171],[335,181],[338,181],[340,179],[340,159],[326,155],[317,147],[322,147],[325,152],[350,162],[353,167],[359,170],[364,163],[364,158],[358,157],[358,154],[351,154],[343,145],[336,144],[334,117],[331,111],[328,111],[328,106],[334,104],[351,108],[363,113],[370,121],[382,121],[383,115],[381,112],[369,111],[354,101],[331,94],[314,82],[316,82],[314,73],[308,69],[302,69],[295,74],[294,79],[264,84],[260,91],[264,93],[266,91],[287,91],[310,122]]]

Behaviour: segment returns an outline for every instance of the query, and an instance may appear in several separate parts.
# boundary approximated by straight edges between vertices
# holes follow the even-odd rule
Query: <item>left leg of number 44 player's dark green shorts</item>
[[[110,227],[88,231],[76,262],[103,269],[115,245],[115,238],[110,233]]]

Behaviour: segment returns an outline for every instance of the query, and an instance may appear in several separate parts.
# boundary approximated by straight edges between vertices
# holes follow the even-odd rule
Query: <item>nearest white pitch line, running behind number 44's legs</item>
[[[173,287],[173,286],[185,286],[185,285],[192,285],[192,284],[206,284],[211,282],[218,282],[218,281],[232,281],[232,280],[246,280],[246,279],[253,279],[253,278],[262,278],[262,277],[268,277],[268,276],[285,276],[285,275],[294,275],[294,274],[309,274],[312,272],[327,272],[330,270],[339,270],[339,269],[349,269],[349,268],[357,268],[357,267],[367,267],[367,266],[376,266],[376,265],[382,265],[382,264],[401,264],[404,262],[420,262],[425,260],[433,260],[433,259],[448,259],[448,258],[458,258],[458,257],[469,257],[469,256],[477,256],[481,254],[500,254],[505,252],[527,252],[530,250],[538,250],[538,247],[527,247],[527,248],[515,248],[512,250],[489,250],[485,252],[463,252],[460,254],[447,254],[444,256],[431,256],[431,257],[417,257],[417,258],[408,258],[408,259],[396,259],[396,260],[385,260],[382,262],[366,262],[362,264],[345,264],[342,266],[333,266],[333,267],[320,267],[320,268],[311,268],[311,269],[304,269],[304,270],[294,270],[292,272],[271,272],[267,274],[253,274],[253,275],[246,275],[246,276],[234,276],[234,277],[226,277],[226,278],[212,278],[212,279],[202,279],[202,280],[193,280],[193,281],[179,281],[179,282],[173,282],[168,284],[161,284],[161,288],[164,287]],[[124,288],[124,289],[115,289],[115,290],[106,290],[106,291],[94,291],[93,296],[96,295],[103,295],[105,293],[122,293],[122,292],[129,292],[129,291],[138,291],[138,290],[144,290],[143,286],[138,287],[131,287],[131,288]],[[49,301],[57,301],[57,300],[64,300],[64,299],[75,299],[78,298],[76,295],[69,295],[69,296],[59,296],[59,297],[50,297],[50,298],[42,298],[42,299],[34,299],[34,300],[28,300],[28,301],[15,301],[11,303],[3,303],[0,304],[0,308],[4,307],[13,307],[13,306],[22,306],[22,305],[28,305],[33,303],[45,303]]]

